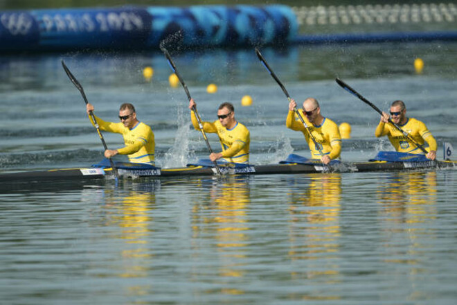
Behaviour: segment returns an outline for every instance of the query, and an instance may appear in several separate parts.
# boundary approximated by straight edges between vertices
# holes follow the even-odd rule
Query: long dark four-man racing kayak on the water
[[[185,176],[210,176],[216,170],[210,166],[190,165],[181,168],[158,168],[147,164],[129,164],[116,162],[120,177],[185,177]],[[223,175],[278,175],[278,174],[303,174],[303,173],[350,173],[370,171],[404,171],[419,169],[456,169],[457,161],[425,161],[425,162],[339,162],[325,166],[320,163],[308,164],[265,164],[233,166],[227,164],[219,166]],[[114,177],[110,167],[88,168],[59,168],[49,171],[27,171],[19,173],[0,174],[0,184],[17,182],[46,182],[63,180],[97,180]]]

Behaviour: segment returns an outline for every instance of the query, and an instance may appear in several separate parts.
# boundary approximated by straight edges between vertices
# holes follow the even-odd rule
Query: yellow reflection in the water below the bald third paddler
[[[293,279],[325,279],[337,283],[339,279],[339,237],[341,236],[341,174],[313,174],[307,185],[300,181],[287,194],[292,216],[289,256],[305,260],[306,270],[296,270]],[[339,299],[339,295],[312,299]]]

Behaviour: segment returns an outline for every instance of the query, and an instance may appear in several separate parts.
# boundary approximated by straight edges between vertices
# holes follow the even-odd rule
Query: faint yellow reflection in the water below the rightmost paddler
[[[438,214],[436,175],[436,171],[397,172],[379,184],[377,195],[383,207],[379,212],[384,220],[386,261],[418,265],[417,254],[427,251],[429,239],[436,239],[433,229]],[[407,251],[404,245],[397,244],[400,240],[408,241]]]

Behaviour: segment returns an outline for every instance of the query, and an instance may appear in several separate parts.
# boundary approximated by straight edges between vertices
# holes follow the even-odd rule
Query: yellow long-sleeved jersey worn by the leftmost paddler
[[[97,116],[96,120],[100,130],[123,135],[125,147],[118,149],[120,155],[128,155],[129,161],[133,163],[154,165],[154,132],[148,125],[138,122],[134,128],[129,129],[123,123],[106,122]]]

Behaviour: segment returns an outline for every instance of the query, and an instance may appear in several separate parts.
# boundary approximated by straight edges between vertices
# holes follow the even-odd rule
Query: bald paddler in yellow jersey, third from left
[[[321,107],[319,107],[319,102],[316,98],[307,98],[303,102],[303,110],[298,110],[308,126],[308,128],[305,128],[305,125],[294,112],[296,105],[293,99],[289,103],[289,114],[287,114],[286,119],[287,128],[303,132],[305,140],[310,146],[313,159],[320,159],[323,164],[329,164],[332,159],[339,159],[341,136],[339,135],[338,125],[321,115]],[[312,133],[323,155],[319,152],[319,148],[314,145],[308,130]]]

